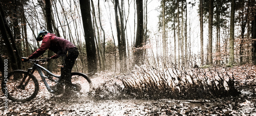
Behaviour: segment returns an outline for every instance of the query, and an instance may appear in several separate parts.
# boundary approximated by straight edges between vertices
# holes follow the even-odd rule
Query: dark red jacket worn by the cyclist
[[[65,56],[71,48],[76,48],[76,46],[66,39],[56,37],[55,34],[48,33],[42,40],[41,47],[32,53],[29,56],[29,59],[39,57],[41,54],[45,53],[47,49],[56,53],[51,58],[57,59],[59,56]]]

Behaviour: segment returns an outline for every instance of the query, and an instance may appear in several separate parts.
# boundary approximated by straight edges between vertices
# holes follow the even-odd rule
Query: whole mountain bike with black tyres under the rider
[[[12,101],[25,102],[30,101],[36,97],[39,91],[39,83],[33,74],[35,70],[38,71],[41,80],[44,82],[46,89],[50,93],[57,93],[57,95],[59,95],[63,92],[55,91],[53,86],[56,88],[56,85],[60,85],[62,89],[66,88],[66,84],[58,81],[61,77],[60,75],[55,75],[46,68],[39,65],[40,63],[49,61],[49,59],[26,60],[26,58],[23,57],[22,61],[32,63],[33,67],[29,68],[28,71],[14,70],[8,73],[7,78],[2,80],[2,91],[4,94],[7,94],[8,99]],[[72,72],[71,75],[72,83],[73,85],[76,85],[74,87],[75,91],[78,91],[79,93],[86,93],[90,90],[92,81],[88,76],[86,76],[86,74]]]

